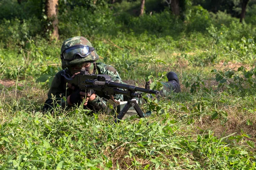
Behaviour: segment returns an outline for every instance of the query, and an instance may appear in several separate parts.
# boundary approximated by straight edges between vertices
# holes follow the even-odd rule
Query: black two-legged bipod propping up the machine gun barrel
[[[135,111],[140,117],[145,117],[143,111],[140,109],[139,105],[137,104],[136,99],[131,99],[128,100],[127,103],[125,104],[125,107],[122,109],[122,111],[118,114],[117,118],[115,119],[116,122],[120,122],[122,118],[125,116],[129,108],[134,107]]]

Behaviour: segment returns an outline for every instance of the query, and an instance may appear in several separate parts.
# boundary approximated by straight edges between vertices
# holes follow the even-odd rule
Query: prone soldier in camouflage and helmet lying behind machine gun
[[[95,48],[84,37],[73,37],[63,42],[61,46],[61,67],[67,74],[74,77],[79,74],[81,70],[88,71],[89,74],[107,74],[112,77],[114,82],[123,83],[119,77],[118,72],[111,65],[106,65],[102,62],[96,62],[99,59]],[[63,108],[70,108],[73,105],[81,104],[88,108],[100,111],[107,109],[107,101],[104,98],[100,98],[96,94],[85,94],[83,91],[79,91],[71,84],[64,82],[64,77],[61,76],[63,72],[59,71],[53,81],[51,88],[48,92],[48,99],[45,102],[44,110],[52,109],[58,105]],[[167,74],[168,82],[162,82],[163,90],[160,92],[162,95],[168,95],[170,92],[180,92],[180,84],[177,74],[169,72]],[[52,96],[55,96],[54,99]],[[66,100],[64,100],[64,98]],[[116,100],[123,101],[124,98],[121,94],[114,96]]]

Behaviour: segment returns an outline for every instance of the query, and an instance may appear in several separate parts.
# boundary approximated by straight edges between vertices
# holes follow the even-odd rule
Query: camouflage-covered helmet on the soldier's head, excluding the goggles
[[[73,38],[69,38],[67,40],[65,40],[61,46],[61,54],[63,53],[63,51],[65,51],[67,48],[74,46],[74,45],[87,45],[89,47],[92,47],[91,43],[89,40],[87,40],[84,37],[73,37]],[[96,61],[97,59],[99,59],[99,55],[97,54],[97,52],[91,51],[91,53],[84,57],[75,57],[73,60],[71,61],[66,61],[64,59],[61,58],[61,67],[62,69],[68,67],[68,66],[72,66],[72,65],[77,65],[77,64],[81,64],[82,62],[86,62],[86,61]]]

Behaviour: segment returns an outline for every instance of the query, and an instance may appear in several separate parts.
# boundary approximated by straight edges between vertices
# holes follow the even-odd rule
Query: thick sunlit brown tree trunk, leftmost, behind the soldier
[[[58,40],[58,0],[46,0],[45,12],[49,21],[52,22],[48,29],[52,31],[50,40]]]

